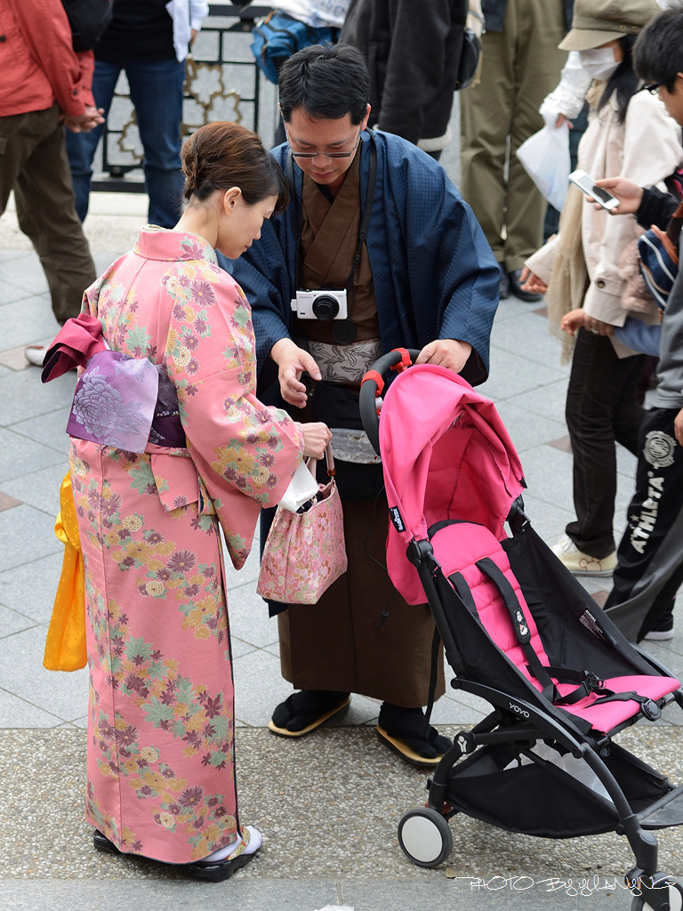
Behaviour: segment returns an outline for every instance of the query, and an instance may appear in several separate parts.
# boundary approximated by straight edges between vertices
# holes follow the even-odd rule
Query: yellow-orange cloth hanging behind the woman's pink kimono
[[[43,665],[47,670],[78,670],[87,664],[86,581],[71,476],[59,489],[55,534],[64,543],[64,562],[47,630]]]

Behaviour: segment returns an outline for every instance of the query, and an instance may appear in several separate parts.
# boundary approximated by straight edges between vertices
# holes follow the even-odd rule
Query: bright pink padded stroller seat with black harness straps
[[[678,690],[680,683],[672,677],[633,674],[603,679],[599,668],[551,667],[534,616],[496,537],[482,525],[457,520],[437,523],[430,531],[434,557],[443,575],[465,606],[478,615],[507,659],[536,690],[545,691],[548,683],[552,683],[551,691],[546,692],[548,698],[585,719],[594,731],[610,732],[635,719],[644,708],[649,717],[648,701],[658,701]],[[526,641],[522,644],[520,640]],[[576,674],[576,680],[567,681],[566,674],[570,677]],[[582,676],[588,681],[587,686],[586,682],[579,682]],[[591,690],[591,686],[595,689]],[[637,694],[639,699],[628,699],[629,694]]]

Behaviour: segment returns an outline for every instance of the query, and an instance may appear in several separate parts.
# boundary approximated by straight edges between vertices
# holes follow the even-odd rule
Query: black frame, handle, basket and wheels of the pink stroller
[[[363,380],[363,425],[378,453],[381,449],[379,414],[382,408],[382,400],[378,401],[378,397],[382,393],[382,374],[390,367],[398,373],[403,372],[416,354],[403,350],[387,354],[373,365],[372,371],[366,374]],[[386,476],[385,465],[385,478]],[[523,478],[522,485],[525,486]],[[392,503],[389,487],[387,494],[392,517],[392,507],[395,508],[395,504]],[[405,516],[402,518],[404,520]],[[453,524],[457,522],[458,520],[454,520]],[[453,746],[444,753],[427,782],[426,805],[403,815],[398,830],[403,853],[416,865],[429,867],[441,864],[453,846],[449,820],[459,812],[499,825],[509,831],[546,837],[573,837],[576,834],[615,831],[627,837],[635,856],[635,865],[625,876],[627,886],[634,896],[633,911],[647,908],[652,911],[679,911],[683,907],[683,885],[674,877],[658,871],[658,840],[653,830],[683,824],[683,785],[676,787],[669,783],[666,776],[619,747],[613,742],[613,738],[642,717],[656,720],[660,711],[671,702],[675,701],[683,708],[683,691],[680,684],[671,678],[668,670],[657,660],[628,642],[587,596],[585,589],[559,563],[531,527],[524,513],[521,496],[515,497],[512,502],[506,522],[511,537],[505,538],[501,546],[509,557],[513,572],[519,572],[524,576],[525,563],[533,564],[538,559],[545,561],[551,568],[550,571],[556,573],[556,578],[553,578],[552,582],[555,584],[559,579],[558,588],[562,589],[562,597],[568,604],[572,604],[576,599],[583,605],[586,605],[586,601],[589,602],[586,607],[588,617],[591,623],[595,621],[595,630],[589,632],[597,643],[596,648],[593,645],[589,647],[591,660],[598,660],[600,650],[605,650],[608,655],[613,655],[614,661],[617,662],[611,665],[613,658],[608,658],[610,670],[614,671],[617,667],[618,672],[621,667],[626,667],[643,675],[644,680],[647,679],[647,675],[656,681],[658,678],[663,678],[664,681],[671,679],[672,687],[658,698],[644,698],[638,711],[626,713],[620,722],[603,732],[586,722],[580,714],[575,715],[573,712],[577,710],[572,704],[558,704],[562,700],[556,702],[552,698],[547,698],[547,692],[540,691],[540,686],[535,686],[533,681],[527,679],[528,675],[525,677],[505,654],[502,656],[505,660],[505,680],[512,683],[511,691],[477,679],[476,674],[471,672],[468,661],[464,660],[464,651],[468,655],[471,654],[475,640],[484,646],[484,636],[487,636],[484,624],[476,613],[476,606],[473,610],[472,605],[468,605],[467,593],[462,586],[460,590],[454,587],[457,573],[452,573],[451,568],[443,568],[443,561],[435,554],[430,536],[410,537],[413,529],[406,528],[406,533],[402,535],[403,541],[410,537],[406,558],[417,572],[423,594],[432,609],[436,631],[443,642],[446,659],[454,670],[455,676],[451,686],[455,690],[488,701],[493,711],[472,730],[462,730],[455,735]],[[452,523],[447,521],[438,523],[442,526],[450,524]],[[466,522],[463,524],[469,525]],[[430,528],[430,531],[432,530]],[[528,576],[528,573],[526,575]],[[524,593],[524,578],[520,578],[519,586]],[[533,594],[531,601],[525,603],[521,609],[525,622],[530,622],[535,627],[535,603],[532,602]],[[576,610],[575,614],[578,617]],[[567,622],[571,619],[568,612],[566,618],[561,618],[560,621],[564,622],[565,619]],[[586,636],[585,627],[586,624],[582,627],[582,635]],[[474,639],[468,639],[470,636],[474,636]],[[465,649],[462,648],[462,641],[459,645],[461,639],[464,639]],[[586,641],[588,639],[586,636]],[[490,642],[490,647],[500,652],[494,642]],[[491,658],[492,654],[493,652],[490,652],[488,657]],[[551,660],[551,663],[554,662]],[[615,699],[620,699],[623,705],[629,695],[631,694],[619,693]],[[573,781],[570,775],[554,762],[547,761],[534,752],[535,746],[544,744],[560,757],[573,757],[582,767],[589,770],[593,780],[601,787],[596,788],[593,783]],[[497,807],[492,809],[491,806],[486,806],[484,801],[480,804],[471,803],[471,795],[477,790],[476,784],[481,780],[486,783],[486,787],[480,788],[480,791],[492,790],[492,784],[495,785],[494,794],[496,788],[498,793],[509,790],[505,785],[508,770],[512,773],[511,777],[516,773],[525,776],[535,775],[535,781],[543,782],[546,789],[556,789],[558,794],[569,793],[572,801],[577,804],[578,831],[571,819],[566,831],[558,832],[549,830],[547,821],[543,818],[535,818],[530,824],[525,824],[525,820],[515,818],[515,814],[513,817],[498,815]],[[492,799],[495,803],[495,797]],[[558,797],[557,801],[561,803],[561,797]],[[539,812],[542,814],[543,811]]]

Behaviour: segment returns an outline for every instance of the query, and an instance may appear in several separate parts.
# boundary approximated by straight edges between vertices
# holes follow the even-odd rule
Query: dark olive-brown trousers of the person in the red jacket
[[[30,238],[46,273],[57,322],[77,316],[83,292],[96,278],[54,104],[0,118],[0,213],[15,191],[19,228]]]

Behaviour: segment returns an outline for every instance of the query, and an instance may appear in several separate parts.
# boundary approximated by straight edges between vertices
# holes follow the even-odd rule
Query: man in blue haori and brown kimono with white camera
[[[270,605],[283,676],[300,690],[270,729],[299,737],[360,693],[382,701],[382,739],[430,765],[450,743],[422,711],[433,619],[426,605],[407,605],[382,568],[382,466],[362,434],[358,391],[372,363],[399,346],[484,382],[499,271],[443,168],[402,138],[366,130],[368,94],[351,46],[307,47],[283,65],[288,142],[272,154],[292,200],[240,260],[223,264],[252,306],[260,394],[332,428],[349,558],[314,611]]]

